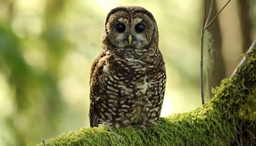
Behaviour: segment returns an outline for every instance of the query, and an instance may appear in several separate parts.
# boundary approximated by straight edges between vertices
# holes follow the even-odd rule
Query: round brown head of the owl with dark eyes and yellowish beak
[[[143,7],[116,7],[107,15],[101,40],[112,49],[147,50],[158,45],[155,18]]]

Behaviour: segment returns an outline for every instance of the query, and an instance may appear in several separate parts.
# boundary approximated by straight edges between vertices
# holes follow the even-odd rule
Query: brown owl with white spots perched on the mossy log
[[[156,126],[166,74],[153,15],[143,7],[119,6],[106,18],[102,49],[90,75],[90,125]]]

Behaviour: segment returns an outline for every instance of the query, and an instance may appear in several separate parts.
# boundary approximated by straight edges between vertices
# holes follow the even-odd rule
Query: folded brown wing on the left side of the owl
[[[95,59],[91,68],[90,79],[90,126],[98,126],[100,115],[98,110],[98,104],[100,102],[100,77],[104,75],[103,67],[106,65],[108,56],[101,58],[100,56]]]

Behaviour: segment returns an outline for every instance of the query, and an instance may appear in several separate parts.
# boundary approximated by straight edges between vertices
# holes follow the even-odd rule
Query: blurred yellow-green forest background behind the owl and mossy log
[[[214,1],[212,17],[225,3]],[[35,145],[89,126],[90,67],[103,20],[119,5],[143,6],[157,21],[167,70],[161,116],[201,106],[204,1],[0,0],[0,145]],[[233,0],[209,27],[210,87],[231,75],[255,38],[254,9],[252,0]]]

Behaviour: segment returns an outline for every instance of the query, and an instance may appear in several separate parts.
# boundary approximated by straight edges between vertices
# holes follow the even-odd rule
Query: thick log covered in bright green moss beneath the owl
[[[256,40],[234,74],[194,111],[160,118],[162,126],[103,125],[59,135],[45,145],[254,145],[256,144]],[[44,145],[43,143],[38,145]]]

